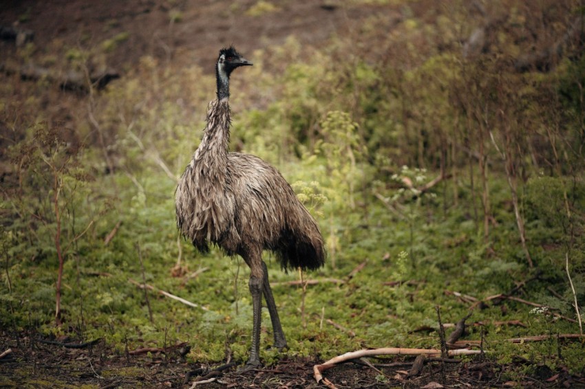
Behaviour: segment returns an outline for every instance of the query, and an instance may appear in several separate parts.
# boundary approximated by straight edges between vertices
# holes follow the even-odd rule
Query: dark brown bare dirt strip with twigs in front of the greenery
[[[115,351],[105,342],[78,347],[74,339],[50,340],[38,333],[0,333],[0,351],[12,353],[0,359],[0,388],[189,388],[196,380],[204,388],[325,388],[317,384],[313,366],[323,361],[287,359],[274,366],[237,373],[232,364],[218,366],[187,363],[184,345],[167,352]],[[502,372],[528,364],[518,360],[501,366],[477,355],[467,362],[428,362],[420,374],[409,377],[413,357],[370,358],[374,366],[346,363],[323,372],[337,388],[497,388],[518,387],[518,381],[502,379]],[[211,382],[207,382],[213,379]],[[582,388],[585,379],[566,371],[553,372],[538,366],[531,377],[522,377],[524,388]],[[199,386],[199,385],[198,385]]]

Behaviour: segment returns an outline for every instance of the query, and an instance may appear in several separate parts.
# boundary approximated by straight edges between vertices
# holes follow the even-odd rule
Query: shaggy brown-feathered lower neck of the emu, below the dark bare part
[[[226,175],[230,138],[230,107],[228,100],[213,100],[207,109],[207,125],[203,138],[193,155],[191,167],[195,174],[213,181],[223,181]]]

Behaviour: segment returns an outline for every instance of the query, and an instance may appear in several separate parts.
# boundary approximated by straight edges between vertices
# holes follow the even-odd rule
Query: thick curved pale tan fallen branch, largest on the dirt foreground
[[[449,350],[449,356],[454,355],[476,355],[480,354],[481,351],[479,350],[468,350],[468,349],[460,349],[460,350]],[[350,353],[345,353],[343,355],[338,355],[332,359],[329,359],[324,364],[315,365],[313,366],[313,373],[317,384],[323,384],[328,386],[329,388],[335,388],[335,386],[326,378],[323,378],[323,371],[328,370],[330,368],[334,368],[337,364],[341,364],[343,362],[348,362],[352,359],[362,358],[362,357],[371,357],[372,355],[440,355],[440,350],[435,350],[432,348],[397,348],[397,347],[386,347],[386,348],[374,348],[371,350],[359,350],[359,351],[351,351]]]

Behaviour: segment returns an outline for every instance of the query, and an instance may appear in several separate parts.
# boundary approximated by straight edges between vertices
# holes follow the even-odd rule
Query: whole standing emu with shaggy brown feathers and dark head
[[[281,174],[264,160],[228,153],[229,79],[237,67],[252,65],[233,46],[220,50],[215,65],[217,100],[209,103],[206,127],[175,192],[177,225],[202,253],[217,245],[240,255],[250,267],[253,302],[252,345],[243,370],[261,366],[262,295],[273,326],[274,346],[286,348],[262,252],[273,252],[285,271],[318,269],[325,263],[323,236],[315,219]]]

